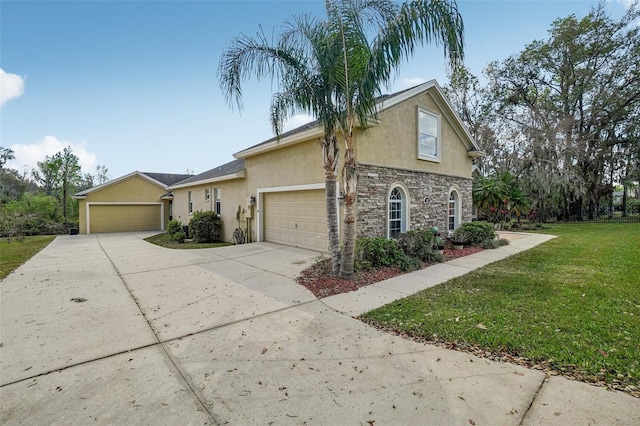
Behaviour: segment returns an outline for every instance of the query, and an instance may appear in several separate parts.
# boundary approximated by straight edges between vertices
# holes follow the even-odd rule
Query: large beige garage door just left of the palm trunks
[[[263,211],[265,241],[327,251],[324,189],[266,193]]]

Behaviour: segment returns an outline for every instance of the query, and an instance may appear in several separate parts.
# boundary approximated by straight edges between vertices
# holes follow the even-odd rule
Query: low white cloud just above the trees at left
[[[96,168],[96,155],[87,151],[86,143],[73,143],[61,141],[55,136],[45,136],[42,140],[32,144],[11,145],[15,160],[7,162],[7,167],[23,172],[26,169],[33,170],[38,167],[38,161],[43,161],[46,156],[63,151],[70,146],[73,153],[78,157],[83,173],[93,173]]]

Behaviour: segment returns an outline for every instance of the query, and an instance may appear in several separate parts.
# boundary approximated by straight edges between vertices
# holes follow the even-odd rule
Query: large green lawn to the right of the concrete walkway
[[[439,343],[640,387],[640,224],[552,225],[543,245],[362,316]]]

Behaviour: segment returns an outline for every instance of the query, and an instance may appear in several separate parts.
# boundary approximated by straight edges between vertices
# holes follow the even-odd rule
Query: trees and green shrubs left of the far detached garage
[[[65,233],[78,225],[78,201],[71,195],[109,180],[98,165],[85,173],[71,147],[47,156],[29,173],[5,167],[13,150],[0,147],[0,236]]]

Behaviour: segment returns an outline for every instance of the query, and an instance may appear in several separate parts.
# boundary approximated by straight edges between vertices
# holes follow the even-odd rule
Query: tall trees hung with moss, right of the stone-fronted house
[[[616,185],[622,215],[636,212],[628,194],[637,199],[640,181],[639,17],[631,7],[614,20],[600,4],[489,64],[486,84],[453,71],[445,90],[487,154],[474,186],[485,214],[519,205],[540,220],[593,219],[613,213]]]

